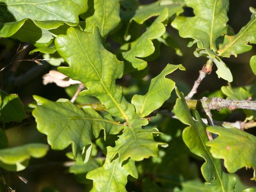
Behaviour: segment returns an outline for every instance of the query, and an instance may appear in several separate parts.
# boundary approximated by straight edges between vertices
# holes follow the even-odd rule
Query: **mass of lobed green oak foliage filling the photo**
[[[207,95],[207,102],[212,101],[211,97],[236,100],[235,108],[241,102],[251,104],[249,110],[238,110],[246,117],[237,129],[233,124],[222,123],[234,106],[216,112],[221,123],[214,126],[210,110],[215,109],[211,107],[218,104],[218,99],[206,107],[204,98],[184,97],[180,82],[172,78],[173,73],[183,74],[186,70],[182,64],[166,63],[154,78],[147,75],[148,62],[159,57],[161,44],[182,56],[179,42],[169,34],[172,26],[180,37],[189,38],[188,46],[196,44],[196,57],[207,58],[201,73],[207,75],[214,70],[214,63],[218,78],[233,82],[224,57],[237,57],[252,49],[251,44],[256,43],[256,10],[250,7],[250,21],[237,34],[231,34],[227,16],[230,3],[0,1],[0,40],[10,37],[29,42],[33,46],[29,54],[42,54],[42,59],[37,56],[32,61],[41,64],[43,60],[44,65],[63,73],[60,81],[80,82],[79,86],[65,88],[68,95],[75,95],[70,101],[34,95],[35,102],[25,107],[16,94],[0,90],[0,167],[21,171],[31,157],[45,156],[49,145],[51,150],[69,151],[67,157],[74,164],[68,172],[90,191],[124,192],[127,184],[136,186],[135,179],[142,191],[253,191],[231,173],[243,167],[256,169],[255,136],[242,130],[254,126],[256,108],[251,100],[255,99],[255,83],[239,88],[229,84]],[[186,17],[185,7],[192,8],[194,16]],[[256,56],[251,57],[250,67],[256,74]],[[122,82],[127,77],[136,82],[129,88]],[[193,89],[203,78],[199,76]],[[76,92],[80,92],[79,96]],[[6,126],[22,124],[31,114],[47,144],[9,146]],[[203,121],[206,116],[208,123]],[[198,176],[197,166],[189,162],[191,157],[203,161],[205,184]],[[255,177],[254,173],[252,179]]]

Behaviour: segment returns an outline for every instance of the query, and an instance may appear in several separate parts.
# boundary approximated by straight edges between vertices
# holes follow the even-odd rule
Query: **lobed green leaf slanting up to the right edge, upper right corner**
[[[252,49],[252,46],[247,45],[247,43],[256,44],[256,11],[252,7],[250,7],[250,10],[253,14],[249,23],[242,27],[238,34],[233,36],[225,35],[224,42],[218,50],[218,56],[237,56]]]

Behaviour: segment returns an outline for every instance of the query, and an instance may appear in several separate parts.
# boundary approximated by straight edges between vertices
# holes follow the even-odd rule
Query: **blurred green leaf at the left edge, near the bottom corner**
[[[28,166],[31,157],[41,158],[49,147],[46,144],[26,144],[0,150],[0,167],[10,171],[21,171]]]

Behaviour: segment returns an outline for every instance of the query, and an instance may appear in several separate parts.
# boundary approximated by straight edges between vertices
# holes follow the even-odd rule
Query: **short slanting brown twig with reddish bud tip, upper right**
[[[185,99],[191,99],[192,96],[194,96],[195,93],[197,93],[197,89],[201,81],[204,79],[204,77],[207,74],[211,73],[211,71],[212,71],[212,64],[211,63],[209,64],[209,61],[208,61],[207,64],[203,66],[202,70],[199,71],[198,79],[195,81],[192,90],[188,93]]]

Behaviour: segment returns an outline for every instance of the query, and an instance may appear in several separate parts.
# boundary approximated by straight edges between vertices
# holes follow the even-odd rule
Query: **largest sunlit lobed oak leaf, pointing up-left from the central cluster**
[[[134,106],[126,101],[121,88],[116,87],[116,79],[122,77],[123,62],[103,47],[97,28],[93,33],[69,28],[67,35],[56,38],[55,45],[70,65],[58,70],[87,87],[80,95],[95,96],[112,116],[123,119],[134,116]]]

